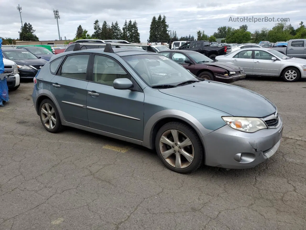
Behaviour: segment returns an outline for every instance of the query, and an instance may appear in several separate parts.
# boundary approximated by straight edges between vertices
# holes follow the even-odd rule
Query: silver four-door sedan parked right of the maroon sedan
[[[215,60],[236,64],[249,76],[282,77],[286,82],[306,78],[305,59],[288,57],[270,48],[239,49]]]

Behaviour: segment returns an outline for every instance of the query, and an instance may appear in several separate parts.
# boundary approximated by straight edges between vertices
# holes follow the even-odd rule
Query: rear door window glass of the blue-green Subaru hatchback
[[[59,75],[74,79],[86,80],[87,63],[89,54],[68,56],[62,65]]]

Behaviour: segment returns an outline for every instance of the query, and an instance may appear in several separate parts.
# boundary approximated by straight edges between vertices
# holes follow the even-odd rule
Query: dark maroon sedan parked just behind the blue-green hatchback
[[[244,70],[232,63],[215,62],[207,56],[190,50],[161,51],[160,54],[181,64],[199,78],[231,83],[244,79]]]

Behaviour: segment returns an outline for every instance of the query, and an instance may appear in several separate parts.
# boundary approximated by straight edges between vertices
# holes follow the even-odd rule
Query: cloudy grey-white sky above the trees
[[[204,30],[212,35],[220,26],[238,28],[247,24],[249,31],[263,27],[272,28],[278,18],[289,18],[290,23],[297,28],[300,21],[306,24],[305,0],[203,0],[190,3],[185,0],[0,0],[0,36],[18,38],[21,28],[18,4],[22,7],[22,22],[31,23],[39,40],[58,39],[56,19],[53,9],[58,9],[61,18],[59,29],[62,39],[73,39],[78,25],[82,25],[90,34],[96,19],[102,25],[103,21],[111,24],[118,21],[122,27],[125,20],[136,20],[140,32],[140,40],[144,42],[149,37],[152,17],[164,14],[170,30],[176,30],[178,36],[194,35],[196,31]],[[65,3],[67,2],[67,3]],[[167,3],[166,3],[167,2]],[[196,3],[201,2],[201,3]],[[274,22],[229,21],[230,17],[274,17]]]

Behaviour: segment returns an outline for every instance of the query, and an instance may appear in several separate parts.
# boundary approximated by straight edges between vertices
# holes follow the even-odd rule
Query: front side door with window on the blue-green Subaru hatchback
[[[89,127],[120,136],[143,139],[144,93],[142,90],[117,90],[117,78],[134,81],[113,58],[95,55],[87,86]],[[136,82],[133,82],[136,85]]]

